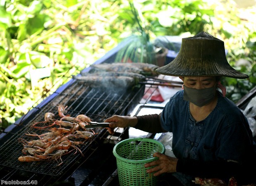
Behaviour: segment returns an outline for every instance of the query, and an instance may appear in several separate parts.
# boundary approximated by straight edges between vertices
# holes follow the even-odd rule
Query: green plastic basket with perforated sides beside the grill
[[[154,186],[157,177],[146,172],[153,167],[144,167],[145,163],[157,160],[153,154],[165,153],[165,146],[157,140],[148,138],[130,138],[117,143],[113,154],[117,160],[117,172],[120,186]]]

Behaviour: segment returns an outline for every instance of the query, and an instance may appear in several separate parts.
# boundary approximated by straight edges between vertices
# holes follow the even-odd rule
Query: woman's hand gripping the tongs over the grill
[[[110,134],[114,134],[114,128],[115,127],[133,127],[137,124],[138,119],[134,116],[134,117],[129,117],[129,116],[118,116],[118,115],[114,115],[108,119],[106,119],[104,122],[108,122],[109,123],[109,128],[108,129]]]

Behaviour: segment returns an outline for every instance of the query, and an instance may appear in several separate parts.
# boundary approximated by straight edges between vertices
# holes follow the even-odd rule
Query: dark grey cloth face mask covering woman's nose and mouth
[[[184,86],[183,99],[195,104],[198,107],[202,107],[214,99],[215,89],[215,86],[203,89],[188,88]]]

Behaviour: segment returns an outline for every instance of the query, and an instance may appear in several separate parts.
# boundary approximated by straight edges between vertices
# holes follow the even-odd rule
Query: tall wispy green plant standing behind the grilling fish
[[[117,52],[115,62],[142,62],[163,66],[168,50],[151,41],[153,31],[151,25],[146,25],[142,14],[132,2],[129,2],[136,27],[132,34],[124,38],[124,46]]]

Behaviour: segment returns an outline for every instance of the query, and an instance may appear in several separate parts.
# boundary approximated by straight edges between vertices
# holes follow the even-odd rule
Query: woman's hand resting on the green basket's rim
[[[145,164],[145,167],[156,166],[151,169],[148,169],[148,173],[155,172],[154,176],[159,176],[160,174],[169,172],[176,172],[176,165],[178,159],[175,157],[170,157],[161,153],[154,153],[153,157],[158,157],[159,159],[153,162],[149,162]]]

